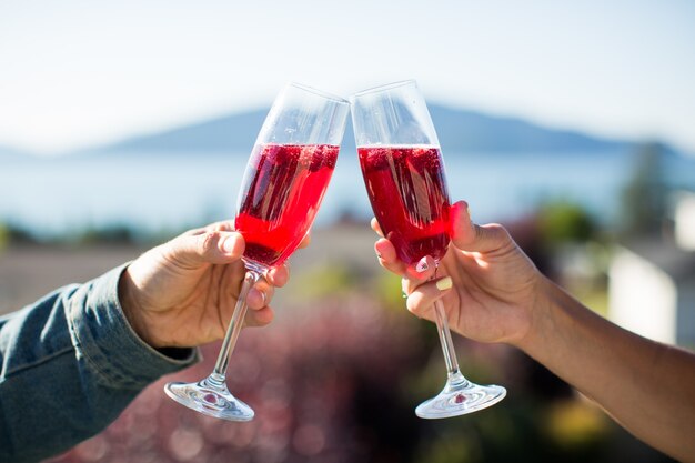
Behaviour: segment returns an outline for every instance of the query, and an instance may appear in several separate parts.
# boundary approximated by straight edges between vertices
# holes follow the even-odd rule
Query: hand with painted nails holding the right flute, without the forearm
[[[520,340],[528,330],[540,272],[502,225],[471,222],[465,202],[452,205],[451,221],[452,242],[439,266],[431,258],[405,265],[386,239],[375,244],[380,264],[403,278],[407,309],[417,316],[433,321],[433,303],[441,299],[460,334],[482,342]],[[375,220],[372,228],[380,233]]]

